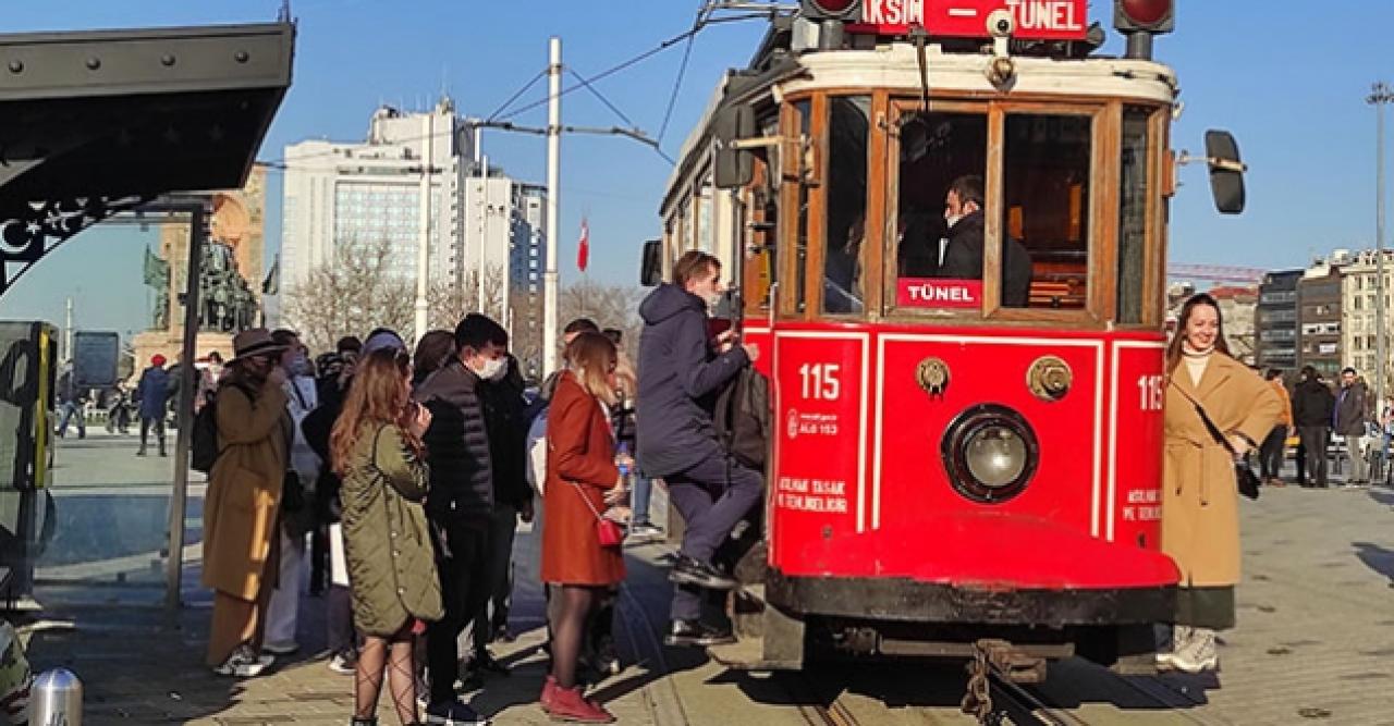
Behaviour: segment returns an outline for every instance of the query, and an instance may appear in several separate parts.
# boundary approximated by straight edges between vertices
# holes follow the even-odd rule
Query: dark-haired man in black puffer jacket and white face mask
[[[445,605],[445,616],[427,627],[429,723],[481,722],[454,697],[456,638],[488,596],[493,467],[481,389],[484,380],[505,371],[509,334],[488,316],[470,314],[454,329],[454,346],[459,357],[415,390],[415,400],[432,414],[422,436],[431,464],[427,514],[439,534],[436,562]]]

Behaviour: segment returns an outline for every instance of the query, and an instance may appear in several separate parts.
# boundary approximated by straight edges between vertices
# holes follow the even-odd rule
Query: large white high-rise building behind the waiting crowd
[[[386,245],[389,273],[414,283],[429,213],[429,283],[450,290],[442,302],[450,309],[438,312],[485,312],[523,348],[535,322],[539,346],[545,192],[491,169],[477,152],[449,98],[428,113],[378,109],[362,142],[287,146],[282,287],[304,286],[346,245]],[[429,209],[421,196],[428,170]],[[514,314],[519,304],[528,309]]]

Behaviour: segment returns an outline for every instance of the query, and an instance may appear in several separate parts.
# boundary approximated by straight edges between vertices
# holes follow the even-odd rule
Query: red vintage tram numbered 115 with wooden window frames
[[[1037,676],[1151,669],[1178,581],[1158,542],[1178,84],[1150,57],[1172,14],[1117,0],[1128,54],[1100,57],[1085,0],[803,0],[718,85],[644,276],[694,248],[736,270],[772,383],[764,602],[719,659],[991,638]],[[1238,212],[1234,141],[1207,146]],[[944,277],[965,176],[981,273]],[[1004,273],[1020,249],[1029,286]]]

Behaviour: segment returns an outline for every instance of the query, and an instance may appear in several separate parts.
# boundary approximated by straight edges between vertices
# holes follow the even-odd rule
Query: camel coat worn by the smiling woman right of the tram
[[[1178,390],[1179,389],[1179,390]],[[1227,436],[1262,442],[1282,415],[1282,401],[1257,373],[1214,353],[1190,382],[1182,361],[1167,386],[1167,464],[1161,549],[1181,569],[1182,587],[1230,587],[1239,581],[1239,495],[1234,457],[1210,436],[1181,392],[1204,407]]]

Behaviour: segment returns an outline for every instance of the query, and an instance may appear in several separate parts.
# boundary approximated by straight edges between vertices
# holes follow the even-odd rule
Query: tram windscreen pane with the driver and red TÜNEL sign
[[[912,113],[902,118],[899,144],[896,288],[891,294],[901,308],[981,309],[987,117]],[[976,191],[965,191],[972,196],[967,201],[955,194],[962,217],[951,230],[945,202],[955,183]]]

